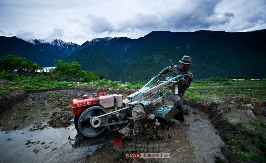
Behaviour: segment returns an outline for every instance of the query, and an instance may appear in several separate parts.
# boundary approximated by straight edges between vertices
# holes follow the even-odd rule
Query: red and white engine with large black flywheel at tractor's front
[[[70,109],[75,116],[75,128],[87,137],[99,135],[106,128],[106,126],[99,127],[100,124],[108,123],[109,119],[116,117],[117,113],[100,118],[95,117],[112,112],[115,106],[118,109],[124,106],[123,95],[107,95],[105,92],[101,92],[94,93],[93,96],[84,95],[82,98],[71,100]],[[122,115],[122,117],[124,116]]]

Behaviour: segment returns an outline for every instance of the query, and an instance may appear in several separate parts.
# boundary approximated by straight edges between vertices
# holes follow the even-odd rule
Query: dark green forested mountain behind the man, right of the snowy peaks
[[[265,33],[266,30],[237,33],[155,31],[134,39],[125,51],[114,51],[114,45],[99,46],[98,50],[89,47],[82,50],[82,57],[79,51],[65,59],[77,61],[83,69],[116,81],[145,80],[171,66],[169,59],[179,64],[183,55],[192,57],[190,68],[194,79],[228,75],[264,78]]]

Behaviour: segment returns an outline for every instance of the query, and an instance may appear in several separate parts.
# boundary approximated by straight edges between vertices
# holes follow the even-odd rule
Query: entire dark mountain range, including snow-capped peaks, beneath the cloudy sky
[[[248,75],[266,77],[266,29],[252,32],[154,31],[138,39],[96,38],[82,45],[60,39],[0,37],[0,57],[25,57],[40,66],[53,66],[53,60],[75,61],[82,70],[113,81],[146,80],[163,68],[179,64],[183,55],[192,57],[194,79],[210,76]],[[171,76],[171,73],[169,73]]]

